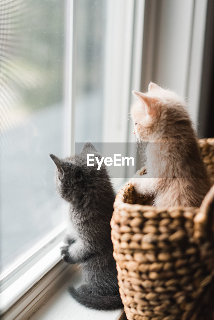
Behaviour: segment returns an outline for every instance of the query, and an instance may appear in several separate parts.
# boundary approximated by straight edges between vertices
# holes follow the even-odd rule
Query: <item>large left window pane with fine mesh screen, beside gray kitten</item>
[[[58,227],[49,153],[63,156],[63,0],[0,3],[1,268]]]

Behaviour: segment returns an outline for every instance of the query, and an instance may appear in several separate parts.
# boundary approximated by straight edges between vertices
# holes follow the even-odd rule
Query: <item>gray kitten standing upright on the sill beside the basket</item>
[[[57,166],[56,189],[70,203],[70,221],[74,234],[65,239],[63,259],[81,263],[86,283],[70,294],[88,308],[112,310],[122,308],[113,258],[110,220],[115,193],[105,165],[97,170],[86,165],[86,154],[100,154],[87,142],[80,155],[59,159],[50,155]]]

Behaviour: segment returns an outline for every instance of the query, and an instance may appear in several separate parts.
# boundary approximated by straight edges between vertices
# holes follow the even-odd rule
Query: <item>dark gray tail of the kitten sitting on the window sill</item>
[[[115,310],[123,308],[120,295],[114,296],[95,296],[92,295],[89,286],[82,285],[77,290],[69,287],[69,292],[74,299],[87,308],[97,310]]]

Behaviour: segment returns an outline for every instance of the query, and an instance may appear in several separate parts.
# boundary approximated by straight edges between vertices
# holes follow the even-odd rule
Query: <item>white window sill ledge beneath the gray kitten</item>
[[[56,272],[54,268],[60,268]],[[24,297],[2,317],[2,320],[119,320],[126,319],[123,310],[98,311],[86,308],[74,300],[68,285],[83,284],[78,265],[67,265],[60,261]],[[58,274],[55,276],[54,274]],[[49,277],[49,279],[47,279]],[[46,279],[45,279],[46,278]],[[52,281],[50,281],[50,279]],[[48,285],[46,285],[48,283]],[[27,300],[27,301],[26,301]],[[27,303],[26,303],[27,302]],[[23,308],[23,306],[25,306]],[[18,311],[18,312],[17,312]]]

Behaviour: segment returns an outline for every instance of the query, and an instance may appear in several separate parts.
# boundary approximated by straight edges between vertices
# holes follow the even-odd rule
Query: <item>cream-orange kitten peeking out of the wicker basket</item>
[[[133,178],[136,192],[153,196],[155,206],[200,206],[211,181],[200,155],[185,101],[150,83],[147,93],[133,91],[134,133],[148,141],[147,174]]]

